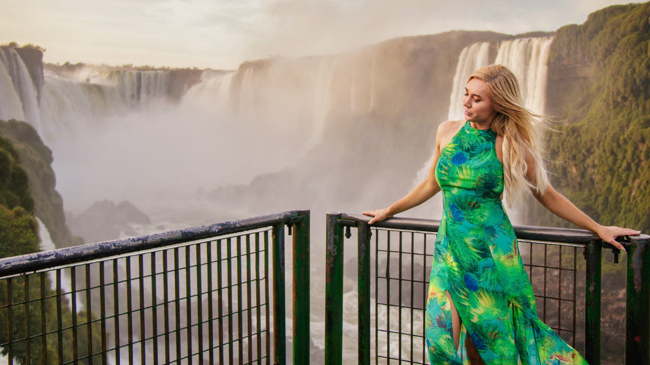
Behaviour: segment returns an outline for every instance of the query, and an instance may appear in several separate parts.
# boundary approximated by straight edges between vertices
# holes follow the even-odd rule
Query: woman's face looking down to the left
[[[488,129],[497,111],[492,108],[492,103],[487,97],[487,84],[478,79],[471,79],[465,86],[463,97],[465,120],[473,124],[474,128]]]

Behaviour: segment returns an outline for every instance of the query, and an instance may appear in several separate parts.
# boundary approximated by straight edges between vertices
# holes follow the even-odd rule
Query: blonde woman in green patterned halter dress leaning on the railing
[[[389,208],[363,212],[370,224],[443,192],[426,301],[426,340],[432,364],[586,364],[537,317],[515,233],[504,212],[530,190],[560,218],[597,233],[625,251],[617,236],[639,234],[591,220],[547,179],[540,134],[521,106],[510,69],[475,71],[465,87],[465,120],[445,121],[436,134],[426,180]],[[461,351],[458,351],[460,344]],[[463,351],[463,349],[465,351]]]

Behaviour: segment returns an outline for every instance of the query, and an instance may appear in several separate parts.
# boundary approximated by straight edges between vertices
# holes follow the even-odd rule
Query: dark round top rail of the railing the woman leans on
[[[356,223],[368,223],[372,217],[359,213],[341,213],[341,218],[355,221]],[[437,232],[440,227],[439,220],[424,220],[418,218],[398,218],[393,217],[378,223],[373,223],[372,227],[388,229],[404,229],[424,232]],[[569,244],[586,244],[593,240],[600,240],[597,234],[584,229],[565,229],[552,227],[535,227],[530,225],[514,225],[515,234],[520,240],[536,240],[547,242],[566,242]],[[638,236],[629,236],[630,241],[650,241],[650,236],[640,234]],[[623,245],[627,242],[621,240]],[[607,244],[609,245],[609,244]]]

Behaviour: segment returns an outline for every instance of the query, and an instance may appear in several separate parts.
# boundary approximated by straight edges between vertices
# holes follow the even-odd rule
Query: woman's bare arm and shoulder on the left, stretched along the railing
[[[440,191],[440,186],[438,186],[437,181],[435,181],[435,166],[437,165],[438,158],[440,157],[441,143],[447,145],[447,143],[444,142],[448,142],[448,134],[450,134],[450,132],[453,132],[456,127],[456,122],[454,121],[446,121],[445,123],[441,123],[435,134],[434,160],[431,164],[431,167],[429,168],[429,175],[426,177],[426,179],[424,179],[424,181],[422,181],[422,183],[419,183],[417,186],[415,186],[415,188],[411,190],[409,194],[393,203],[393,205],[390,207],[370,210],[369,212],[362,212],[367,216],[374,217],[368,222],[369,224],[383,221],[386,218],[391,218],[395,214],[404,212],[404,210],[417,207],[428,199],[431,199],[431,197]],[[444,145],[442,145],[443,148]]]

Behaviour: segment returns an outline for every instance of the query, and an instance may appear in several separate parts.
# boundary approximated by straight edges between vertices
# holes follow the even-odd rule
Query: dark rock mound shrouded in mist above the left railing
[[[70,231],[81,236],[86,243],[116,240],[121,236],[135,236],[133,225],[149,224],[149,216],[129,201],[115,204],[96,201],[77,216],[68,216]]]

